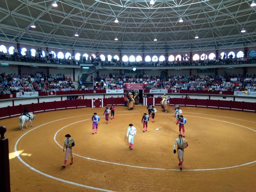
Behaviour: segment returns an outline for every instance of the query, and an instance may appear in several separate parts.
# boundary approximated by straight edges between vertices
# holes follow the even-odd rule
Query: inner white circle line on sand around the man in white
[[[138,115],[138,114],[122,114],[122,115]],[[168,114],[159,114],[159,115],[168,115]],[[116,116],[121,116],[121,115],[116,115]],[[196,117],[196,118],[202,118],[202,117],[197,117],[197,116],[191,116],[191,117]],[[208,119],[208,118],[202,118],[202,119]],[[61,146],[59,144],[59,142],[57,142],[56,140],[56,136],[57,134],[64,128],[70,126],[70,125],[73,125],[75,123],[80,123],[82,121],[86,121],[86,120],[89,120],[89,119],[85,119],[85,120],[81,120],[81,121],[77,121],[77,122],[74,122],[74,123],[71,123],[71,124],[68,124],[62,128],[60,128],[54,135],[54,141],[55,143],[60,147],[62,148],[63,146]],[[210,119],[210,120],[217,120],[217,121],[222,121],[222,120],[218,120],[218,119]],[[227,121],[222,121],[222,122],[225,122],[225,123],[230,123],[230,122],[227,122]],[[241,126],[241,127],[245,127],[243,125],[239,125],[239,124],[235,124],[235,123],[232,123],[234,125],[238,125],[238,126]],[[248,128],[248,127],[245,127],[245,128]],[[252,131],[255,131],[251,128],[248,128]],[[165,170],[165,171],[180,171],[179,169],[166,169],[166,168],[154,168],[154,167],[143,167],[143,166],[133,166],[133,165],[127,165],[127,164],[123,164],[123,163],[115,163],[115,162],[109,162],[109,161],[103,161],[103,160],[100,160],[100,159],[94,159],[94,158],[90,158],[90,157],[84,157],[82,155],[79,155],[79,154],[76,154],[76,153],[73,153],[74,155],[78,156],[78,157],[81,157],[81,158],[84,158],[84,159],[88,159],[88,160],[91,160],[91,161],[98,161],[98,162],[103,162],[103,163],[109,163],[109,164],[113,164],[113,165],[120,165],[120,166],[126,166],[126,167],[133,167],[133,168],[144,168],[144,169],[151,169],[151,170]],[[224,170],[224,169],[230,169],[230,168],[235,168],[235,167],[242,167],[242,166],[245,166],[245,165],[249,165],[249,164],[252,164],[252,163],[255,163],[256,161],[252,161],[252,162],[248,162],[248,163],[244,163],[242,165],[235,165],[235,166],[230,166],[230,167],[221,167],[221,168],[206,168],[206,169],[184,169],[183,171],[213,171],[213,170]]]

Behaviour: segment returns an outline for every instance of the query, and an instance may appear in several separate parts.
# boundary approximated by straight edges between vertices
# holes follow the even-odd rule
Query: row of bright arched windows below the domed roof
[[[4,53],[7,53],[7,48],[4,45],[1,45],[0,46],[0,51],[4,52]],[[27,51],[27,49],[25,47],[21,48],[21,55],[26,55],[26,51]],[[30,51],[31,51],[31,55],[32,56],[36,55],[36,50],[35,49],[31,49]],[[13,46],[9,47],[8,52],[9,52],[9,54],[13,54],[14,47]],[[57,57],[59,59],[64,59],[64,58],[65,59],[69,59],[71,57],[71,53],[69,53],[69,52],[67,52],[65,55],[61,51],[57,52],[57,54],[54,51],[50,51],[49,53],[51,53],[54,58]],[[252,56],[252,57],[255,57],[256,56],[255,50],[251,50],[248,55]],[[42,51],[41,56],[42,57],[45,56],[45,52],[44,51]],[[86,59],[89,57],[88,54],[84,54],[82,56],[86,57]],[[93,58],[96,57],[94,54],[92,54],[92,56],[93,56]],[[222,52],[220,54],[220,56],[221,56],[221,59],[223,59],[224,57],[225,58],[227,58],[227,57],[228,58],[230,58],[230,57],[231,58],[235,58],[235,57],[242,58],[242,57],[244,57],[244,52],[243,51],[238,51],[236,54],[233,51],[229,52],[228,54],[225,53],[225,52]],[[76,60],[80,60],[81,54],[77,53],[77,54],[74,55],[74,57],[75,57]],[[111,61],[112,60],[112,56],[111,55],[107,55],[107,58],[104,55],[100,55],[99,57],[101,58],[102,61],[105,61],[106,59],[107,59],[107,61]],[[118,55],[115,55],[113,58],[116,59],[116,60],[119,60],[119,56]],[[213,60],[214,58],[216,58],[216,55],[214,53],[211,53],[209,55],[202,54],[201,56],[199,56],[198,54],[195,54],[192,57],[192,59],[194,61],[206,60],[206,59]],[[91,59],[91,57],[90,57],[90,59]],[[185,54],[184,56],[183,55],[177,55],[176,57],[174,57],[173,55],[168,56],[168,61],[175,61],[175,60],[176,61],[178,61],[178,60],[180,61],[182,59],[184,59],[184,60],[189,59],[189,56],[187,54]],[[149,55],[145,56],[145,61],[146,62],[150,62],[150,61],[153,61],[153,62],[161,61],[162,62],[162,61],[165,61],[165,60],[166,60],[165,56],[163,56],[163,55],[159,56],[159,58],[156,55],[154,55],[153,57],[150,57]],[[142,57],[140,55],[138,55],[136,57],[133,56],[133,55],[131,55],[129,57],[127,55],[124,55],[122,57],[122,61],[124,61],[124,62],[128,62],[128,61],[130,61],[130,62],[135,62],[135,61],[136,62],[140,62],[140,61],[142,61]]]

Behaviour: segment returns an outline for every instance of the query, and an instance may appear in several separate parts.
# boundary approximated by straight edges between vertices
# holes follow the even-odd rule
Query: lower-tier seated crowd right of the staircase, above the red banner
[[[176,89],[176,90],[206,90],[206,91],[256,91],[255,74],[243,76],[226,72],[219,76],[208,75],[204,77],[192,75],[166,75],[159,76],[137,74],[110,73],[109,76],[97,76],[95,89],[124,89],[127,83],[145,84],[145,89]]]

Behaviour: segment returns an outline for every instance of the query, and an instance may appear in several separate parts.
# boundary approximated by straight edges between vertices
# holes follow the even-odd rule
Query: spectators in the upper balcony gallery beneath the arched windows
[[[32,56],[33,55],[33,56]],[[107,57],[105,57],[107,58]],[[14,48],[13,54],[0,52],[0,60],[12,60],[12,61],[22,61],[27,63],[48,63],[48,64],[69,64],[69,65],[79,65],[82,63],[91,63],[97,66],[101,63],[102,66],[113,66],[113,67],[179,67],[179,66],[204,66],[204,65],[227,65],[227,64],[248,64],[248,63],[256,63],[255,57],[248,58],[233,58],[232,55],[229,57],[224,55],[223,57],[219,56],[218,59],[215,57],[210,60],[207,58],[206,60],[190,60],[185,55],[181,55],[181,59],[177,58],[174,61],[168,61],[166,58],[165,61],[140,61],[140,62],[123,62],[118,61],[114,58],[111,61],[102,61],[101,57],[97,54],[88,55],[87,57],[80,55],[79,59],[75,58],[74,55],[69,55],[67,59],[60,59],[56,55],[52,54],[52,52],[44,51],[42,48],[38,48],[34,54],[32,54],[31,50],[25,51],[25,54],[22,55],[21,48]]]

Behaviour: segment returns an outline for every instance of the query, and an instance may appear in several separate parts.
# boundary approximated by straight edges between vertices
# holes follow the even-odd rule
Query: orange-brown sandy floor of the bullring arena
[[[182,107],[189,146],[180,171],[172,150],[178,125],[172,111],[166,114],[156,108],[155,122],[148,123],[145,133],[141,123],[145,106],[132,111],[118,106],[109,124],[102,115],[104,108],[35,114],[33,127],[25,131],[19,130],[18,117],[1,120],[9,138],[11,190],[255,191],[255,113]],[[92,135],[94,112],[101,120],[98,133]],[[137,128],[133,150],[126,138],[129,123]],[[63,169],[59,145],[67,133],[75,139],[76,155],[74,164],[69,165],[69,158]]]

